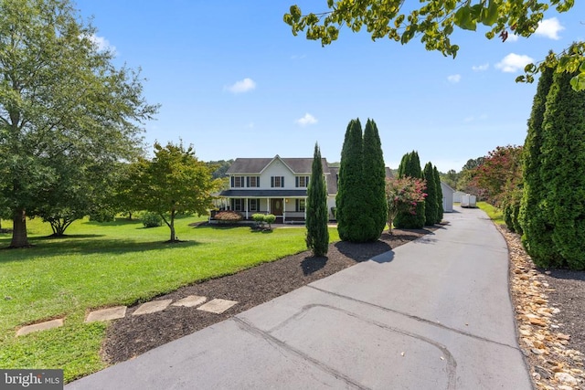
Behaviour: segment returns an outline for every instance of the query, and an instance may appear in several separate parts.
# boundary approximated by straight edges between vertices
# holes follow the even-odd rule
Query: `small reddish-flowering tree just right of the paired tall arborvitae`
[[[392,234],[394,219],[399,213],[416,214],[417,205],[424,202],[425,182],[422,179],[403,176],[386,179],[386,202],[388,204],[388,228]]]

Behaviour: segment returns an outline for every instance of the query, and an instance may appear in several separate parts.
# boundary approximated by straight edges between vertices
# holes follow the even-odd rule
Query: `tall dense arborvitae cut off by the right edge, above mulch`
[[[562,259],[555,265],[585,269],[585,93],[570,86],[576,73],[555,73],[542,124],[544,220]]]

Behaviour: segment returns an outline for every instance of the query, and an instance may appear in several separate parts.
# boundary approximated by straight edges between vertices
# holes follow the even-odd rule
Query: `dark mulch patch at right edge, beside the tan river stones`
[[[585,354],[585,271],[553,269],[543,275],[552,290],[548,292],[548,303],[560,310],[555,314],[558,332],[570,334],[568,347]]]

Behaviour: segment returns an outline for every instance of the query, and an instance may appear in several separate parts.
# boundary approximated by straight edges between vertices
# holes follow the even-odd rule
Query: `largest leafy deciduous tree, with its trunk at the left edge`
[[[29,245],[27,213],[58,184],[48,157],[130,158],[157,110],[95,32],[68,0],[0,0],[0,198],[12,211],[13,248]]]

